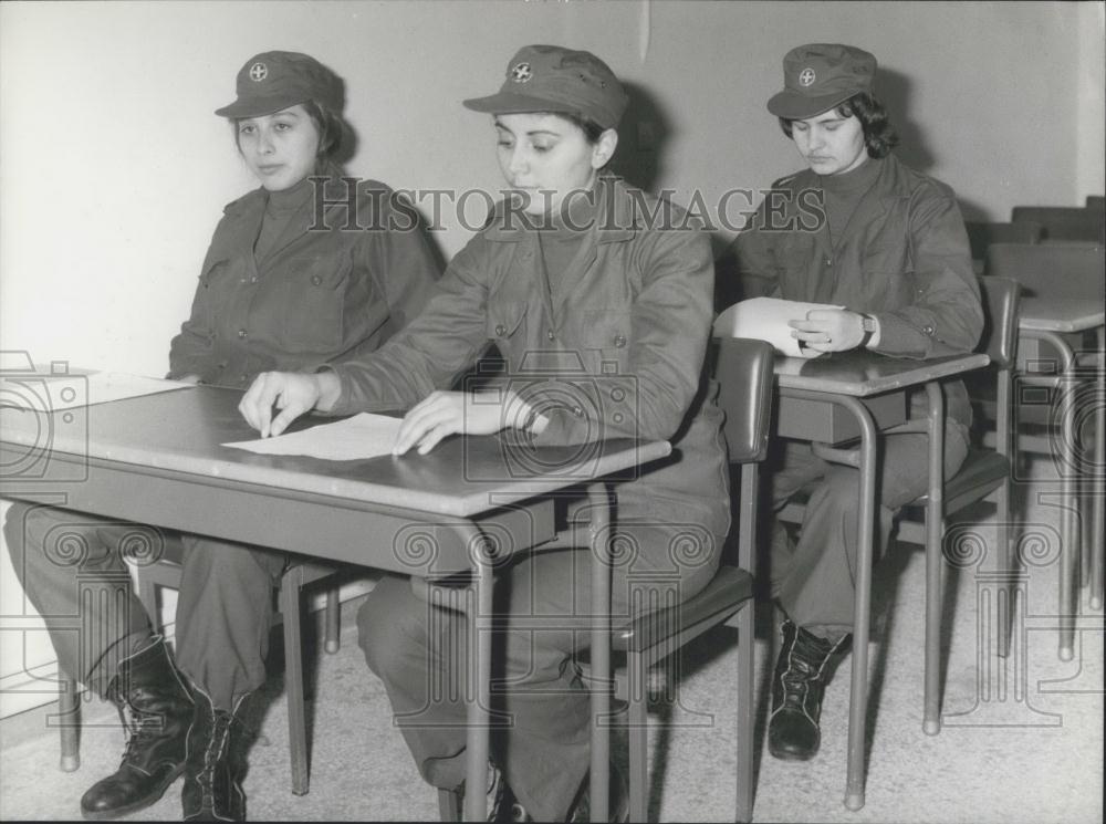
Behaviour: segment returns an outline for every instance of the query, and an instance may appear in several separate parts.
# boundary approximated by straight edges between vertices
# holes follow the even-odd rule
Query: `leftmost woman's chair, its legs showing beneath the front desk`
[[[159,613],[158,593],[161,587],[179,588],[182,546],[179,541],[168,541],[165,553],[156,563],[138,565],[138,599],[146,614],[157,626]],[[309,786],[307,722],[303,685],[303,639],[301,637],[303,590],[321,578],[334,575],[337,570],[317,563],[292,563],[281,577],[278,594],[280,614],[284,627],[284,686],[288,690],[288,727],[290,758],[292,766],[292,792],[305,795]],[[325,640],[327,653],[338,650],[338,592],[326,592]],[[73,772],[80,764],[80,692],[77,684],[69,674],[60,674],[59,716],[67,719],[61,726],[61,769]]]

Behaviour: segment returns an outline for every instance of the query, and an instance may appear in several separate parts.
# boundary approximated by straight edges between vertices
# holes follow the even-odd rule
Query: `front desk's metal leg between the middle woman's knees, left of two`
[[[476,563],[476,608],[469,616],[469,649],[476,650],[473,661],[476,700],[469,701],[468,730],[466,739],[465,786],[465,820],[484,821],[488,817],[488,799],[484,788],[488,786],[488,737],[491,732],[489,723],[490,682],[491,682],[491,633],[484,630],[484,623],[491,620],[492,609],[492,564],[483,556],[483,541],[476,531],[477,546],[473,552],[479,560]]]

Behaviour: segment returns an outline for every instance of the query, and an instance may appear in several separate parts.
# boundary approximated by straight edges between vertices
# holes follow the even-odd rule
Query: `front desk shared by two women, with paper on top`
[[[33,384],[33,378],[31,378]],[[30,384],[29,384],[30,385]],[[469,703],[468,786],[487,785],[491,596],[495,563],[556,543],[553,496],[586,487],[591,540],[608,557],[605,479],[667,456],[666,441],[524,450],[497,437],[455,437],[426,456],[323,461],[220,446],[255,436],[241,393],[176,389],[50,414],[0,408],[0,497],[40,501],[229,541],[408,575],[473,570],[469,622],[476,700]],[[304,416],[294,428],[324,423]],[[611,567],[594,565],[592,666],[609,678]],[[594,718],[609,712],[592,692]],[[593,726],[592,813],[606,818],[609,742]],[[466,818],[486,817],[468,793]]]

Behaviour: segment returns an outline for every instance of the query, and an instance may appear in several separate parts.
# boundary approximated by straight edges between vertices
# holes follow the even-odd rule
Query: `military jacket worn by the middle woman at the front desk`
[[[710,243],[681,210],[616,178],[601,176],[597,202],[573,263],[552,280],[536,232],[497,212],[418,319],[379,352],[332,367],[342,385],[334,411],[407,408],[494,344],[498,379],[549,419],[535,446],[670,440],[674,459],[617,487],[620,512],[692,519],[724,534],[721,413],[717,386],[701,379]]]

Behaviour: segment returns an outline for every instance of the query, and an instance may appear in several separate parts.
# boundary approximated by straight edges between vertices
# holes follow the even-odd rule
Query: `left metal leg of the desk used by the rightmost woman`
[[[845,806],[864,806],[864,724],[868,711],[868,628],[872,612],[872,544],[876,517],[876,425],[867,407],[853,397],[835,398],[860,427],[860,500],[856,549],[856,602],[853,612],[853,685],[848,703],[848,771]]]

